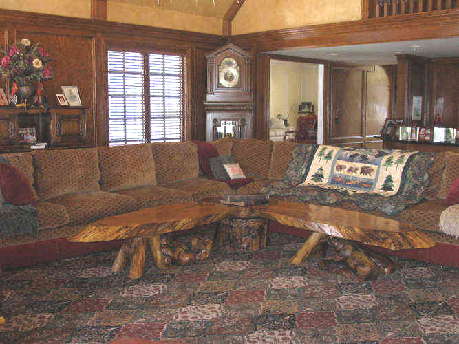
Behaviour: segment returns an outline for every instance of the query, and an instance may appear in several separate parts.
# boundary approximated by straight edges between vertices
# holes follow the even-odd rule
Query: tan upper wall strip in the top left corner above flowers
[[[91,0],[1,0],[3,10],[91,18]]]

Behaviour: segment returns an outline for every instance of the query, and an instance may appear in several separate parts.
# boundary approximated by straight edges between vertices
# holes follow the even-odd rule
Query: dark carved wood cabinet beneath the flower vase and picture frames
[[[36,140],[49,148],[87,146],[86,107],[48,109],[0,108],[0,151],[28,151],[20,144],[19,129],[34,128]]]

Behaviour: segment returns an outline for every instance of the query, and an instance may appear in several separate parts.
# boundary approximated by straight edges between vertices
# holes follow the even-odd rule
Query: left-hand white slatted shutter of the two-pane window
[[[108,52],[109,144],[145,142],[143,56]]]

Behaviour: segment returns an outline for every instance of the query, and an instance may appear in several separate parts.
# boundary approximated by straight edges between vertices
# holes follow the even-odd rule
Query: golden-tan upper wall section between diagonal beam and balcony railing
[[[361,19],[361,0],[246,0],[233,19],[233,34]]]

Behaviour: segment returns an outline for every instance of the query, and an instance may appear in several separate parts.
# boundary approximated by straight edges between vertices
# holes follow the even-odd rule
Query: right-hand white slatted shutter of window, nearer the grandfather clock
[[[151,142],[184,137],[184,58],[150,54]]]

